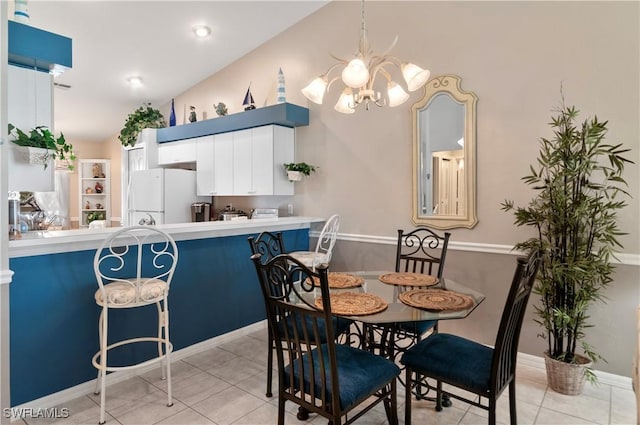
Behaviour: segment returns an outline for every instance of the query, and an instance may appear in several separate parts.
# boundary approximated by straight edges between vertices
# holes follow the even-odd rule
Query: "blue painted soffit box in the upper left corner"
[[[42,72],[72,66],[71,39],[20,22],[9,21],[9,64]]]

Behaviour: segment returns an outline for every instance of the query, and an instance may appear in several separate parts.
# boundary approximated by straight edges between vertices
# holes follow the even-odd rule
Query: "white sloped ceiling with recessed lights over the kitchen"
[[[166,104],[328,1],[31,0],[30,25],[73,40],[73,68],[54,80],[55,131],[108,139],[143,102]],[[196,39],[196,24],[211,35]]]

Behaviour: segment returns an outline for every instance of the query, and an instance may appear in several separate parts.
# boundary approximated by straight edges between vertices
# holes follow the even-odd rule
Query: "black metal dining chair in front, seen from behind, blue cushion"
[[[397,425],[400,369],[383,357],[336,343],[327,264],[313,271],[287,254],[266,263],[260,254],[251,259],[269,327],[275,340],[283,342],[276,344],[278,424],[285,422],[285,402],[292,401],[299,406],[299,419],[314,412],[335,425],[350,424],[382,402],[389,423]]]

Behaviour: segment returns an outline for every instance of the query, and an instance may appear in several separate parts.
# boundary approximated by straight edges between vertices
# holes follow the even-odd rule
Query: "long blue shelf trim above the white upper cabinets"
[[[263,125],[301,127],[309,125],[309,109],[292,103],[279,103],[224,117],[158,129],[158,143],[228,133]]]

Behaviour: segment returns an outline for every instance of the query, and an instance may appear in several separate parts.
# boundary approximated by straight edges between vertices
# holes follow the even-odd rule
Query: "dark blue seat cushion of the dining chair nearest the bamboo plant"
[[[415,372],[474,392],[489,391],[493,349],[438,333],[407,350],[400,363]]]

